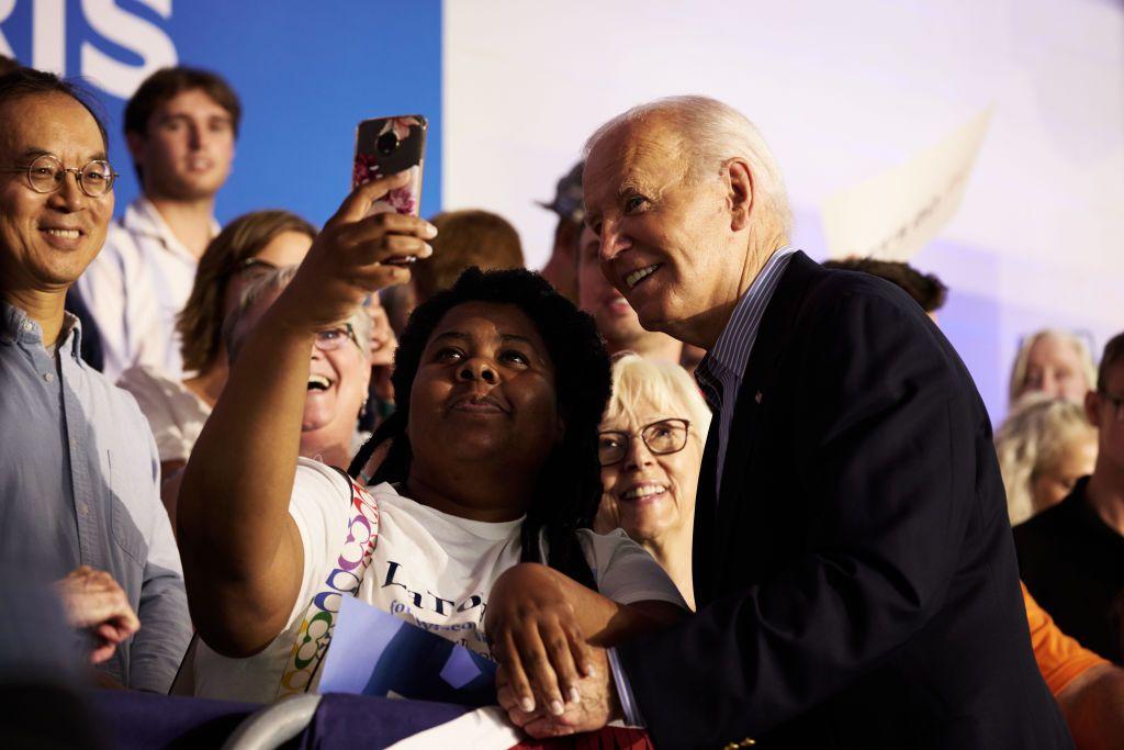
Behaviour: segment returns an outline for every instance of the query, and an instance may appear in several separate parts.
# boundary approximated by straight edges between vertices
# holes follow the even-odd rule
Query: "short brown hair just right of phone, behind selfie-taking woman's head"
[[[445,211],[430,219],[437,236],[433,255],[415,263],[414,289],[420,305],[448,289],[465,269],[522,269],[523,245],[507,219],[482,210]]]

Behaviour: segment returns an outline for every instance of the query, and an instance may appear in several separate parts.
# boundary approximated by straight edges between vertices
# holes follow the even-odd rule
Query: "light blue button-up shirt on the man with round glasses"
[[[67,326],[56,358],[39,325],[0,301],[0,545],[35,567],[29,577],[109,572],[140,630],[100,668],[165,693],[191,622],[156,446],[133,397],[82,361],[76,318]]]

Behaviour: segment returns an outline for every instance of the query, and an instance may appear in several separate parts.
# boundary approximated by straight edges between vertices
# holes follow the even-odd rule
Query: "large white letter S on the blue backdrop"
[[[163,18],[172,17],[172,0],[139,0]],[[114,60],[89,42],[82,43],[82,74],[106,92],[128,99],[140,82],[178,57],[172,39],[157,26],[117,7],[114,0],[82,0],[82,12],[94,31],[140,55],[139,66]]]

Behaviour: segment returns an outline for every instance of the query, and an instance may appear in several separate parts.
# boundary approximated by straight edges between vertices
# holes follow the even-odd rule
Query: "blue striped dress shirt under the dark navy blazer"
[[[734,407],[737,405],[742,376],[750,363],[750,353],[753,351],[753,342],[758,338],[761,318],[796,251],[796,247],[786,245],[765,261],[758,278],[737,300],[737,306],[729,316],[729,323],[723,328],[718,341],[695,370],[695,379],[703,389],[706,403],[718,417],[716,494],[722,491],[722,470],[726,466],[729,425],[734,421]]]

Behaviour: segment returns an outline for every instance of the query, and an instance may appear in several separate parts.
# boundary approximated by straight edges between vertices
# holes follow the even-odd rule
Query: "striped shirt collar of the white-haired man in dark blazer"
[[[758,328],[761,327],[764,308],[769,305],[780,274],[795,252],[796,247],[785,245],[765,261],[750,288],[734,306],[734,311],[722,329],[718,341],[699,362],[696,377],[700,382],[706,385],[707,381],[717,379],[720,370],[733,372],[738,377],[745,372],[753,341],[758,336]]]

